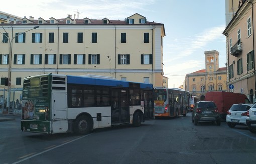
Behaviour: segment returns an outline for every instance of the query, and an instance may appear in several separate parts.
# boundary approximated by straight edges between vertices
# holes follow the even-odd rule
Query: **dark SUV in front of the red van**
[[[212,101],[197,102],[192,112],[192,122],[195,125],[198,122],[216,122],[220,126],[221,117],[216,104]]]

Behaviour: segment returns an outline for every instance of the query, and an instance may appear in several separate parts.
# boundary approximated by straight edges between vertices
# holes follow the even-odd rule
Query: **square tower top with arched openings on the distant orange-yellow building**
[[[205,71],[214,72],[219,69],[219,52],[216,50],[205,51]]]

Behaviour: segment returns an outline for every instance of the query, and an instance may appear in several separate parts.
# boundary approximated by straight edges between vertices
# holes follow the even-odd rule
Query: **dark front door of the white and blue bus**
[[[146,119],[153,118],[152,91],[143,91],[144,94],[144,116]]]

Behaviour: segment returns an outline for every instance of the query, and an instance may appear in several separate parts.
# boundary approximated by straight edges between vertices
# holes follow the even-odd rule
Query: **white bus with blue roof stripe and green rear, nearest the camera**
[[[112,125],[153,119],[153,85],[103,76],[43,74],[26,77],[21,130],[87,134]]]

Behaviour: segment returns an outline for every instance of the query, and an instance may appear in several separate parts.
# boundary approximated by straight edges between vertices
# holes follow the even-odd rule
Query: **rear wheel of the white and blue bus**
[[[74,132],[78,135],[85,135],[91,131],[91,120],[87,116],[80,116],[75,121]]]

